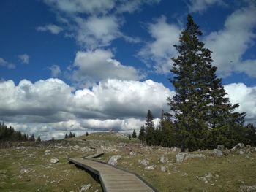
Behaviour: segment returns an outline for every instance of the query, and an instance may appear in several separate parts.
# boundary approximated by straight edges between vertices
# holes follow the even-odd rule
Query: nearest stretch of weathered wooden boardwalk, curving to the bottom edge
[[[82,166],[83,168],[93,172],[99,176],[103,191],[134,191],[146,192],[157,191],[150,184],[146,183],[140,176],[127,172],[124,169],[119,169],[99,161],[84,158],[70,158],[69,162]]]

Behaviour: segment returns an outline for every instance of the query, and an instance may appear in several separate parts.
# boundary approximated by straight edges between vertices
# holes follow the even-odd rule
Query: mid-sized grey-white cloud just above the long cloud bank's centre
[[[75,81],[99,81],[108,78],[140,79],[140,74],[135,68],[116,61],[110,50],[79,51],[75,56],[74,66],[78,68],[72,72],[72,80]]]

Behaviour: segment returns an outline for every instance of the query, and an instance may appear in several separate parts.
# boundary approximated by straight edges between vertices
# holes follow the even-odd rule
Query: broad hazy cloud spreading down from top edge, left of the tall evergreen
[[[86,49],[105,47],[117,38],[137,43],[140,39],[121,32],[125,23],[124,12],[135,12],[143,4],[154,4],[160,0],[45,0],[53,8],[62,25],[66,25],[66,37],[75,38],[78,45]],[[60,16],[61,15],[61,16]],[[43,30],[48,28],[42,27]]]

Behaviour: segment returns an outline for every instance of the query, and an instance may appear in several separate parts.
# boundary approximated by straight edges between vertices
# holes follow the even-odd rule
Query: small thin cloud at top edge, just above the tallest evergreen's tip
[[[224,5],[222,0],[189,0],[189,12],[202,12],[214,4]]]

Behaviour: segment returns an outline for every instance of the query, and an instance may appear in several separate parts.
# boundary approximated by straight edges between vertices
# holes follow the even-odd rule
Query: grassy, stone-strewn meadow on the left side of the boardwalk
[[[78,191],[85,184],[91,184],[89,191],[102,191],[94,177],[67,161],[86,154],[72,145],[2,148],[0,191]],[[59,163],[51,164],[51,158]]]

